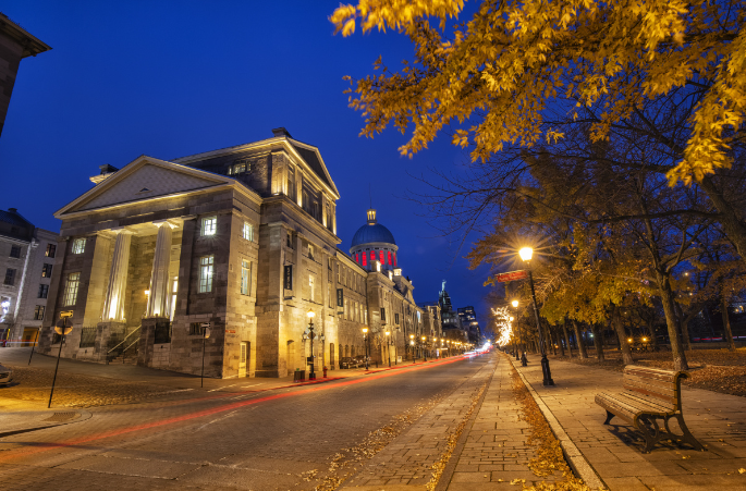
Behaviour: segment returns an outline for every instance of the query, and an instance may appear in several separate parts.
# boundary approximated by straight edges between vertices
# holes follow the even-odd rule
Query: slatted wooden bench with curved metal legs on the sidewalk
[[[622,381],[623,392],[596,395],[596,404],[607,410],[603,424],[609,425],[614,416],[631,422],[645,437],[646,454],[661,440],[671,440],[680,445],[688,443],[695,450],[705,450],[689,432],[682,414],[681,381],[687,377],[689,375],[685,371],[627,365]],[[678,421],[682,435],[669,428],[671,418]],[[663,420],[663,428],[658,425],[659,419]]]

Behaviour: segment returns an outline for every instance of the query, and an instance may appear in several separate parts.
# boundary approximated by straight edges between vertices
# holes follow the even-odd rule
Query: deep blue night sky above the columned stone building
[[[285,126],[321,151],[340,191],[340,247],[365,223],[368,185],[379,222],[396,238],[415,299],[436,300],[443,279],[454,307],[487,320],[486,268],[467,269],[460,237],[443,237],[405,198],[425,191],[409,174],[457,172],[467,156],[440,137],[414,159],[405,135],[359,137],[344,75],[411,58],[406,37],[333,35],[339,1],[44,2],[11,0],[2,12],[52,47],[26,58],[0,137],[0,208],[59,231],[52,213],[93,184],[98,165],[139,155],[176,157],[255,142]],[[469,237],[475,238],[475,237]],[[468,242],[467,242],[468,246]]]

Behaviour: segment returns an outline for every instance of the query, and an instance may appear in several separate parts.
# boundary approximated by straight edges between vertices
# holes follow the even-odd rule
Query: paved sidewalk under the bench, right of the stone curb
[[[684,388],[684,418],[707,451],[662,443],[643,454],[632,427],[619,418],[604,426],[594,402],[598,392],[621,390],[621,373],[552,360],[555,385],[545,388],[538,356],[516,368],[612,491],[746,490],[746,398]]]

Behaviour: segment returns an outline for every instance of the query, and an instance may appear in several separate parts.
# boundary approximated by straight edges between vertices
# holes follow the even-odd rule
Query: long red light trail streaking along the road
[[[20,451],[8,451],[8,454],[0,455],[0,463],[8,462],[8,461],[15,461],[19,458],[27,457],[29,455],[39,454],[42,452],[48,452],[48,451],[51,451],[54,449],[72,447],[72,446],[77,446],[77,445],[82,445],[85,443],[90,443],[94,441],[105,440],[105,439],[114,438],[114,437],[121,437],[124,434],[134,433],[134,432],[138,432],[138,431],[145,431],[145,430],[149,430],[149,429],[161,428],[161,427],[166,427],[169,425],[175,425],[179,422],[191,421],[191,420],[195,420],[198,418],[209,417],[209,416],[213,416],[217,414],[221,414],[221,413],[225,413],[225,412],[230,412],[230,410],[235,410],[235,409],[240,409],[243,407],[247,407],[247,406],[252,406],[252,405],[256,405],[256,404],[260,404],[260,403],[266,403],[266,402],[270,402],[270,401],[283,400],[283,398],[288,398],[288,397],[296,397],[296,396],[301,396],[301,395],[307,395],[310,393],[316,393],[316,392],[321,392],[321,391],[330,391],[330,390],[340,389],[340,388],[347,388],[351,385],[370,382],[374,380],[386,379],[386,378],[394,377],[394,376],[402,375],[402,373],[408,373],[412,371],[418,371],[418,370],[424,370],[424,369],[428,369],[428,368],[440,367],[443,365],[449,365],[449,364],[453,364],[456,361],[463,361],[463,360],[464,360],[463,357],[454,357],[454,358],[449,358],[449,359],[439,360],[439,361],[430,361],[428,364],[411,365],[408,367],[401,367],[401,368],[396,368],[396,369],[382,370],[379,372],[366,375],[365,377],[360,377],[359,379],[343,380],[340,382],[332,382],[332,383],[328,383],[328,384],[323,383],[323,384],[318,384],[318,386],[315,385],[315,386],[309,386],[306,389],[299,389],[299,390],[283,392],[283,393],[279,393],[279,394],[265,395],[265,396],[260,396],[260,397],[256,397],[256,398],[252,398],[252,400],[247,400],[247,401],[237,401],[234,403],[222,404],[220,406],[212,407],[209,409],[203,409],[203,410],[185,414],[182,416],[164,418],[161,420],[151,421],[151,422],[144,424],[144,425],[136,425],[136,426],[132,426],[132,427],[121,428],[118,430],[101,432],[101,433],[91,434],[91,435],[87,435],[87,437],[78,438],[78,439],[74,439],[74,440],[69,440],[69,441],[62,441],[62,442],[57,442],[57,443],[46,443],[46,444],[41,444],[41,445],[44,445],[41,447],[22,449]],[[256,392],[256,391],[246,391],[247,394],[250,394],[253,392]],[[237,394],[236,392],[232,392],[232,393],[225,394],[225,395],[216,395],[216,396],[209,396],[209,397],[197,397],[197,398],[193,398],[193,400],[187,400],[186,402],[181,401],[180,404],[189,403],[189,402],[194,403],[194,402],[200,402],[200,401],[207,401],[207,400],[217,400],[217,398],[230,398],[230,397],[235,397],[236,394]]]

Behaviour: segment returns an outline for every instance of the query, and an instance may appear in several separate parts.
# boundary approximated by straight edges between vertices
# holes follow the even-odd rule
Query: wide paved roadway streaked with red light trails
[[[0,489],[313,489],[335,457],[366,454],[382,429],[380,447],[488,359],[102,407],[85,421],[1,439]]]

